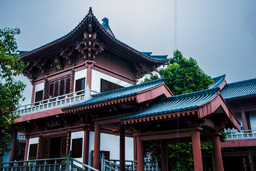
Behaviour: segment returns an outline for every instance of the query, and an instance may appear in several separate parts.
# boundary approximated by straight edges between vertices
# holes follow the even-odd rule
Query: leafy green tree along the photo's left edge
[[[19,28],[0,29],[0,129],[10,129],[11,124],[19,117],[14,115],[13,109],[18,107],[19,99],[22,99],[22,92],[26,85],[14,79],[14,76],[22,74],[25,64],[17,54],[17,43],[14,36],[21,31]],[[22,99],[24,100],[24,98]],[[1,135],[0,161],[5,152],[10,152],[10,139],[8,133]]]

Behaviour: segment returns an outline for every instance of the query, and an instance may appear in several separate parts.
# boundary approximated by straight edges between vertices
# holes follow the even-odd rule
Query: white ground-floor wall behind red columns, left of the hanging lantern
[[[120,159],[120,136],[100,133],[100,150],[110,151],[110,159]],[[92,164],[92,150],[94,150],[94,132],[90,132],[89,161]],[[125,137],[125,160],[133,160],[133,138]]]

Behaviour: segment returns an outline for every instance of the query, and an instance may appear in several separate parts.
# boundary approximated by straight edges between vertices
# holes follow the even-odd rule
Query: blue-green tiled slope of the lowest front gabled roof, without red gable
[[[196,109],[197,107],[200,107],[201,105],[204,105],[205,103],[212,100],[219,92],[219,89],[220,88],[216,87],[203,91],[188,93],[185,95],[166,97],[153,104],[151,107],[145,109],[144,111],[136,112],[129,116],[120,117],[120,120]]]

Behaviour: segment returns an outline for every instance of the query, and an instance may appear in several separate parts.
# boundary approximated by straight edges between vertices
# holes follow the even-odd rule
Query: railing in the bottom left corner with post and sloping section
[[[88,169],[99,171],[71,158],[71,151],[68,153],[68,157],[64,158],[2,162],[0,164],[0,171],[84,171]]]

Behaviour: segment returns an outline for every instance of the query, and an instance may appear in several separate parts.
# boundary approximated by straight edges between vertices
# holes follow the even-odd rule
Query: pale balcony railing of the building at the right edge
[[[226,140],[256,139],[256,128],[242,130],[241,132],[238,132],[236,129],[228,129],[225,132],[227,133]]]

